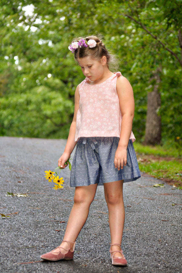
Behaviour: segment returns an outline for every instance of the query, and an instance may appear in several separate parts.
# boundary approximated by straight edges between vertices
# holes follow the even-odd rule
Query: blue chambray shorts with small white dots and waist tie
[[[70,187],[124,180],[134,181],[141,177],[133,142],[127,147],[127,164],[123,170],[114,166],[115,152],[120,138],[116,136],[80,137],[72,161]]]

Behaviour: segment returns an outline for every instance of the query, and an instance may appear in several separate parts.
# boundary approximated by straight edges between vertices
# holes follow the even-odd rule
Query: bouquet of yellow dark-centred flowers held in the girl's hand
[[[69,159],[71,159],[71,158],[69,158]],[[69,164],[69,170],[71,170],[71,163],[69,162],[69,159],[65,162],[65,164]],[[45,179],[49,179],[49,182],[52,182],[52,180],[53,180],[54,183],[57,184],[57,185],[54,184],[54,186],[55,186],[53,188],[54,190],[58,190],[58,189],[63,188],[63,186],[62,186],[63,182],[64,182],[64,180],[62,180],[63,177],[59,178],[59,174],[60,174],[61,169],[63,169],[63,168],[61,168],[61,166],[59,166],[53,171],[51,171],[51,170],[49,170],[49,171],[46,170],[45,171]],[[59,170],[59,173],[57,174],[58,170]],[[55,173],[56,173],[57,176],[54,175]]]

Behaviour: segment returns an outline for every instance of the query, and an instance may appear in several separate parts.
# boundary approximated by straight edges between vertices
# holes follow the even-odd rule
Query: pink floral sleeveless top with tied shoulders
[[[121,72],[114,72],[103,83],[91,85],[85,78],[79,84],[79,109],[76,115],[75,141],[85,136],[118,136],[122,114],[116,91],[116,80]],[[136,140],[131,131],[130,139]]]

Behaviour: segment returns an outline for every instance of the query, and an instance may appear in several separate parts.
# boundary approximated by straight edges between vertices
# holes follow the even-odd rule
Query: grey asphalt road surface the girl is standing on
[[[168,184],[153,187],[164,182],[143,175],[123,186],[126,267],[110,261],[103,186],[97,187],[73,260],[40,259],[61,243],[73,205],[75,188],[69,187],[68,167],[62,170],[63,189],[53,190],[53,183],[44,177],[45,170],[57,167],[65,145],[63,139],[0,137],[0,213],[10,216],[0,218],[0,272],[182,272],[182,190]],[[7,192],[27,197],[7,196]]]

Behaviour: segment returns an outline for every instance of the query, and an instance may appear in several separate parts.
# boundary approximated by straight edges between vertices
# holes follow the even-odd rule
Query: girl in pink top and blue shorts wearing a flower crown
[[[58,160],[58,166],[65,168],[76,146],[70,174],[70,186],[75,187],[74,204],[64,240],[41,258],[73,258],[75,241],[88,217],[97,185],[103,185],[109,211],[110,258],[113,265],[124,266],[123,182],[140,177],[133,147],[133,89],[121,72],[110,71],[113,56],[97,36],[79,38],[69,45],[69,50],[86,77],[76,87],[74,117],[64,153]]]

